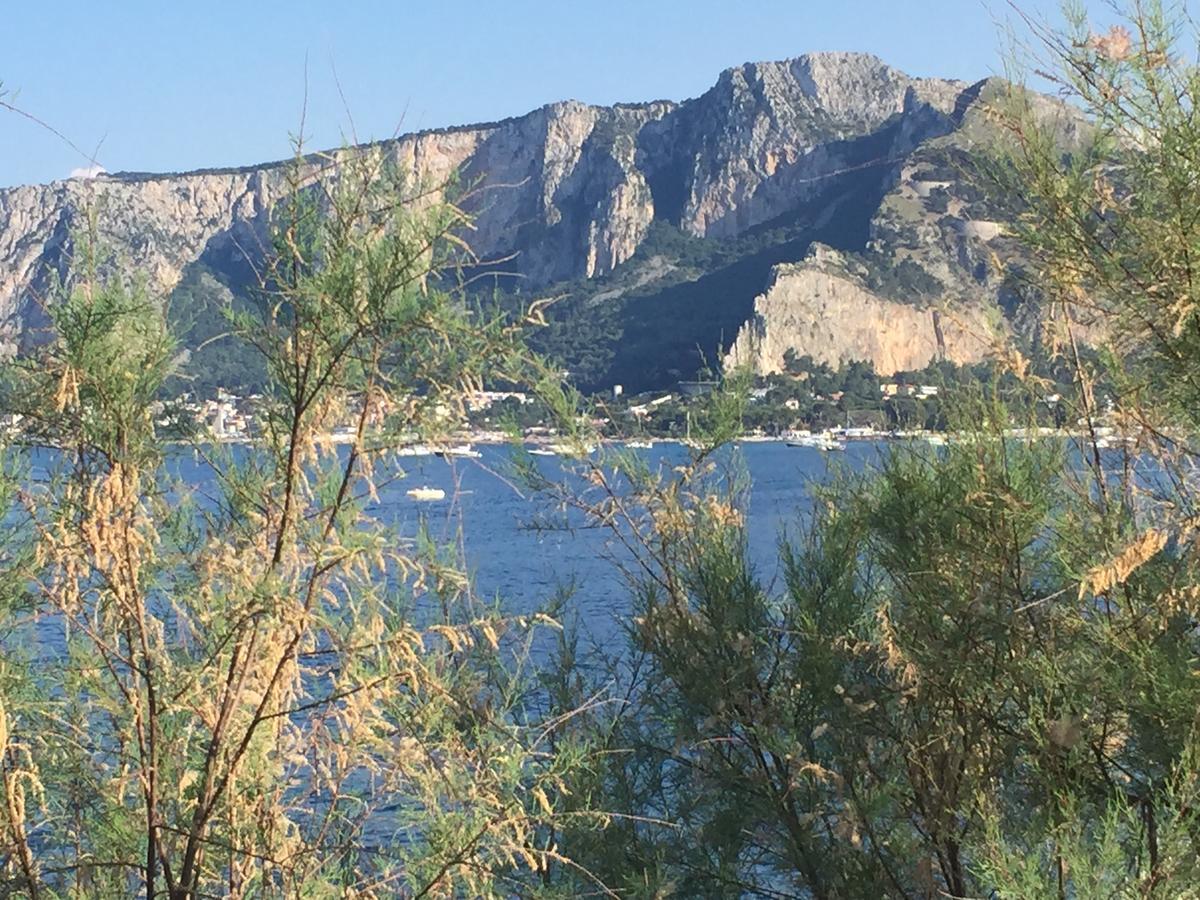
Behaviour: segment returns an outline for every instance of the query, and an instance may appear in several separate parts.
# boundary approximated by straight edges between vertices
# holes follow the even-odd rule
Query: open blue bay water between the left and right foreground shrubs
[[[566,527],[582,523],[578,517],[564,517],[547,498],[529,496],[508,478],[508,448],[481,450],[479,460],[403,460],[406,476],[383,490],[378,508],[371,511],[394,523],[401,534],[413,535],[422,524],[445,541],[461,534],[474,590],[498,599],[506,611],[541,608],[557,593],[570,589],[569,608],[582,630],[595,636],[612,634],[630,606],[628,586],[614,565],[624,554],[613,534],[605,528]],[[719,456],[718,468],[743,473],[748,485],[748,539],[766,582],[776,575],[780,539],[794,534],[810,509],[812,486],[835,469],[862,469],[881,451],[881,444],[865,442],[850,443],[838,454],[758,442],[730,448]],[[676,443],[634,452],[665,472],[688,460],[686,448]],[[548,478],[568,478],[557,457],[534,458]],[[442,488],[445,499],[415,502],[407,496],[415,486]],[[566,526],[539,527],[564,518]]]

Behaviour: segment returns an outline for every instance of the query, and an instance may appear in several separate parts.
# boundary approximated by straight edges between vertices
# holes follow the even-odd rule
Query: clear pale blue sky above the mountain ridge
[[[544,103],[683,100],[722,68],[868,50],[912,74],[1001,68],[1006,0],[59,0],[5,4],[0,80],[110,170],[287,156],[307,58],[313,148]],[[1037,13],[1056,0],[1021,0]],[[336,70],[337,78],[334,72]],[[0,110],[0,185],[85,166]]]

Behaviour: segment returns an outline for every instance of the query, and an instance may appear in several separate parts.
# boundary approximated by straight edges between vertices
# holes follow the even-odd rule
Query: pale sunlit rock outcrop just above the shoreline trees
[[[835,368],[870,361],[881,374],[924,368],[937,359],[977,362],[1003,334],[998,319],[984,304],[960,304],[950,312],[881,296],[852,260],[817,247],[803,263],[773,270],[725,365],[782,372],[790,350]]]

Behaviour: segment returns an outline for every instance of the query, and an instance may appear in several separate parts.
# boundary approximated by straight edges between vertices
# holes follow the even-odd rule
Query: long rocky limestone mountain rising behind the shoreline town
[[[728,70],[684,102],[554,103],[377,146],[479,185],[473,248],[511,257],[487,270],[500,290],[563,298],[538,341],[584,386],[769,372],[788,349],[889,372],[979,359],[1019,318],[1006,210],[971,178],[991,90],[822,53]],[[0,190],[4,349],[37,340],[89,208],[198,343],[286,191],[284,163]],[[204,368],[235,383],[236,365]]]

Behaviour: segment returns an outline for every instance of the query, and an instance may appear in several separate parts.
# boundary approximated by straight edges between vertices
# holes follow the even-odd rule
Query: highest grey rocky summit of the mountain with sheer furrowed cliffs
[[[728,238],[818,196],[835,176],[882,179],[916,143],[953,127],[965,88],[857,53],[730,70],[666,122],[688,157],[679,223]]]

